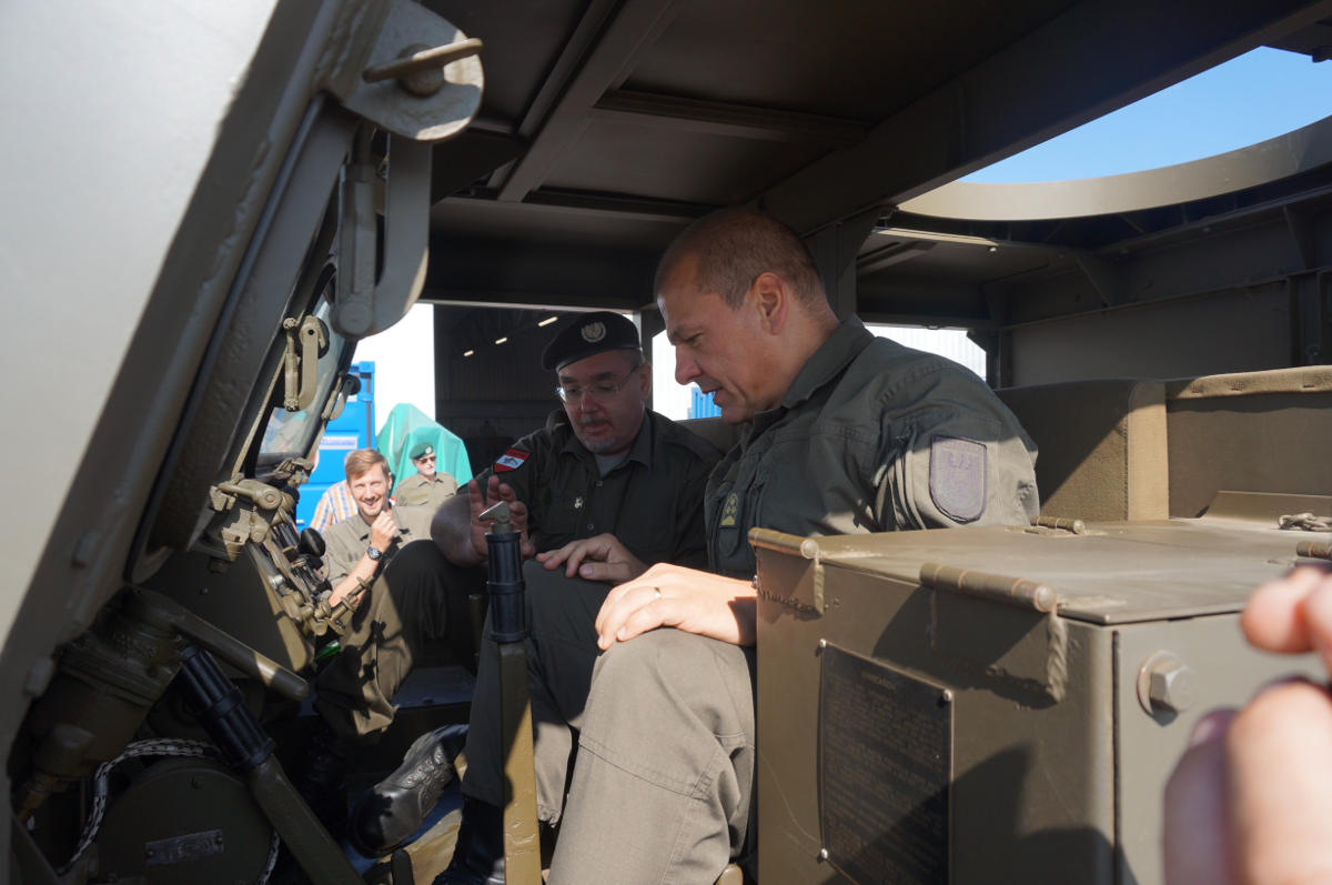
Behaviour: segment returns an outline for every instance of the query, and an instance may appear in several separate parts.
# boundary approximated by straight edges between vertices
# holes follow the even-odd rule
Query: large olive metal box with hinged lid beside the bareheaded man
[[[1311,536],[1076,528],[751,533],[759,881],[1160,881],[1193,724],[1316,672],[1239,630]]]

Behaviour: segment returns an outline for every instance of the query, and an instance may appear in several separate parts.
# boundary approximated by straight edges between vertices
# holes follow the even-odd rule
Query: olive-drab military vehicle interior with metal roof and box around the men
[[[366,858],[284,774],[345,629],[293,501],[356,393],[356,341],[434,304],[434,419],[485,466],[558,407],[539,323],[621,311],[653,360],[658,256],[741,204],[806,240],[839,316],[967,331],[1039,446],[1042,509],[755,530],[758,826],[717,881],[1162,881],[1160,790],[1192,724],[1309,666],[1248,650],[1236,620],[1332,557],[1332,117],[1096,180],[959,179],[1257,47],[1323,63],[1332,1],[258,5],[157,23],[228,87],[182,80],[123,153],[85,160],[112,215],[71,236],[115,264],[57,260],[55,201],[7,229],[13,291],[80,317],[25,300],[13,352],[105,380],[39,372],[20,403],[69,417],[9,460],[35,465],[15,492],[36,505],[8,526],[0,609],[8,881],[433,881],[456,790]],[[55,33],[45,15],[0,57],[32,60],[12,35]],[[129,16],[71,27],[155,81],[186,67]],[[120,71],[80,69],[99,64]],[[143,113],[119,83],[47,84],[9,117],[40,148],[77,116],[57,108]],[[35,193],[60,192],[35,155]],[[425,664],[354,786],[466,721],[470,677]]]

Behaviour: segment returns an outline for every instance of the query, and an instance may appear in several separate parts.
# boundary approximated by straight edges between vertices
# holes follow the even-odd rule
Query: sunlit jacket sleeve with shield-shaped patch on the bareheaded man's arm
[[[979,380],[936,381],[883,427],[875,516],[884,529],[1028,525],[1039,513],[1035,452]]]

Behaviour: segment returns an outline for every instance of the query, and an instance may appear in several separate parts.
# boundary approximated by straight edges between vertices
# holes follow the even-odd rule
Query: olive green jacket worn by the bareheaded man
[[[1035,462],[1035,444],[984,381],[850,317],[714,470],[709,560],[751,576],[753,526],[809,536],[1027,525],[1039,513]]]

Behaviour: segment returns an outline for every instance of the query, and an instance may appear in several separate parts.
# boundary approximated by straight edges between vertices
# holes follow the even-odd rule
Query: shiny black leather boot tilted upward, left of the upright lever
[[[402,764],[356,804],[348,833],[352,846],[365,857],[382,857],[421,829],[453,782],[453,758],[466,740],[466,725],[446,725],[413,741]]]

